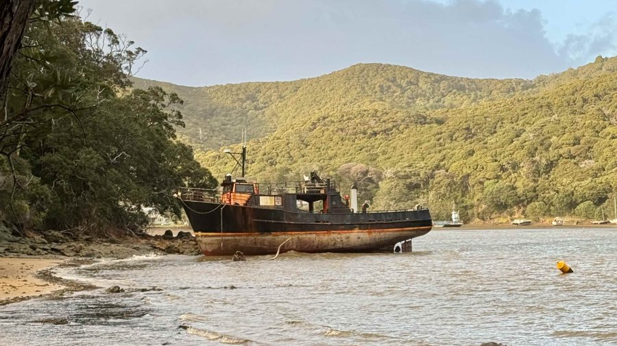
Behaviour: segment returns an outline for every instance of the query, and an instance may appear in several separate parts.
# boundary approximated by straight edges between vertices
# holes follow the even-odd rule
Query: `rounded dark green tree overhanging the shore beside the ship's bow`
[[[52,131],[42,148],[28,152],[34,172],[51,188],[45,226],[136,229],[142,205],[180,215],[176,187],[214,187],[191,148],[171,140],[180,114],[165,109],[176,102],[160,88],[133,90],[82,115],[83,129],[71,126],[71,118],[61,120],[62,131]]]

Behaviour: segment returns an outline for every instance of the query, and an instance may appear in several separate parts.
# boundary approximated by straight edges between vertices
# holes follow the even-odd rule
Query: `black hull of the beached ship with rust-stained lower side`
[[[431,230],[428,209],[372,213],[306,213],[183,201],[197,243],[208,256],[281,252],[374,252]],[[288,240],[289,239],[289,240]]]

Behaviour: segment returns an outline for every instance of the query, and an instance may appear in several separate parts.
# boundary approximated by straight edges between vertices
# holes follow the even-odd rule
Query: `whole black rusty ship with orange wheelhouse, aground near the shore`
[[[238,153],[244,176],[246,148]],[[315,172],[298,183],[254,183],[228,174],[216,190],[182,188],[176,198],[206,255],[281,252],[392,251],[431,230],[426,208],[369,211],[357,191],[341,196],[337,184]],[[316,208],[317,207],[317,208]],[[282,244],[282,245],[281,245]]]

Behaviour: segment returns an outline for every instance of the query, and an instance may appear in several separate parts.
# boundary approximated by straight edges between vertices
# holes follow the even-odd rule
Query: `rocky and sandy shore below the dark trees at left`
[[[0,306],[34,297],[96,289],[55,276],[56,267],[79,266],[95,258],[128,258],[145,254],[201,254],[192,233],[141,234],[133,237],[77,239],[61,232],[29,232],[18,237],[0,229]],[[160,234],[157,234],[160,233]]]

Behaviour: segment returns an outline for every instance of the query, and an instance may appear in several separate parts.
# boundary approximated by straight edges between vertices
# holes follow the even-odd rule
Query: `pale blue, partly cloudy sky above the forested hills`
[[[137,77],[179,85],[291,81],[370,62],[533,79],[617,55],[616,0],[80,0],[80,6],[88,21],[148,51]]]

